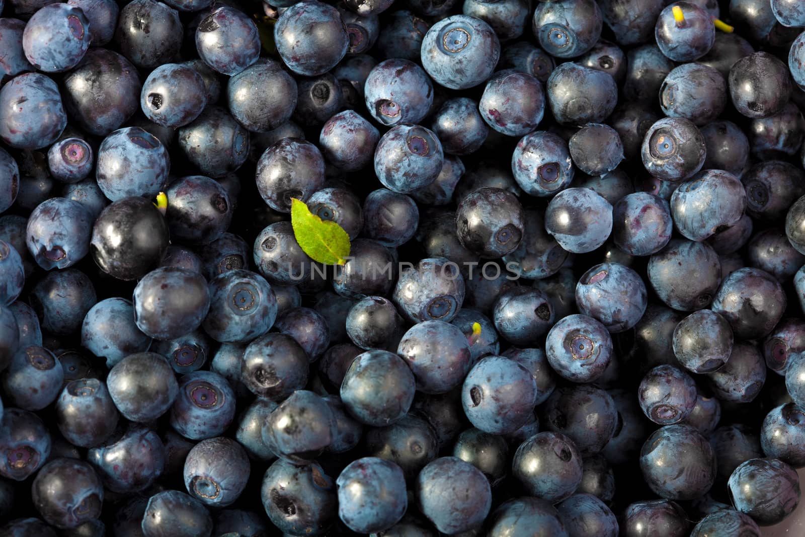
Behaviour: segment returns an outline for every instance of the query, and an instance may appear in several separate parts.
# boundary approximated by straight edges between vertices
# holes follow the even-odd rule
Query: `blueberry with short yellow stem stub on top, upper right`
[[[674,6],[682,9],[684,23],[676,23],[672,6],[665,7],[654,27],[657,46],[665,56],[676,62],[698,60],[710,52],[712,43],[716,41],[712,16],[696,4],[675,2]]]

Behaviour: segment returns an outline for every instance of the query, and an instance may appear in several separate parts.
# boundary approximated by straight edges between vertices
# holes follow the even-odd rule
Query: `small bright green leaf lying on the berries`
[[[333,221],[322,220],[308,205],[291,199],[291,225],[296,242],[313,261],[325,265],[343,265],[349,256],[349,235]]]

